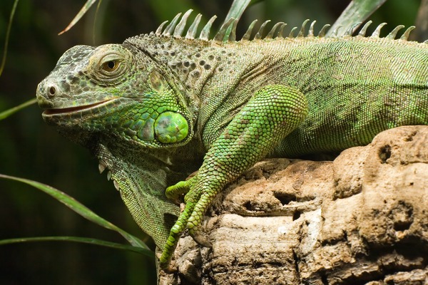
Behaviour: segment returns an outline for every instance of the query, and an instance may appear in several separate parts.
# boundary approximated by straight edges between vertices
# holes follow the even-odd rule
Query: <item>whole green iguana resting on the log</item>
[[[108,168],[163,267],[213,197],[263,157],[340,151],[428,124],[428,46],[407,41],[412,27],[400,39],[403,26],[379,38],[383,24],[370,37],[367,24],[326,38],[315,22],[305,36],[305,21],[283,38],[283,23],[263,37],[265,22],[250,40],[253,22],[235,41],[233,19],[208,39],[214,17],[196,37],[200,15],[183,37],[189,14],[123,44],[75,46],[37,88],[46,123]]]

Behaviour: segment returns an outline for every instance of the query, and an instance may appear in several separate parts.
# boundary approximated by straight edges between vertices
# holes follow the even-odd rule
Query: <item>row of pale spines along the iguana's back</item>
[[[181,13],[177,14],[174,17],[173,21],[171,21],[170,24],[168,24],[168,26],[166,26],[166,28],[163,28],[163,26],[165,26],[165,24],[168,21],[164,21],[161,24],[161,26],[159,26],[158,29],[154,32],[154,34],[156,36],[173,36],[175,38],[181,38],[183,36],[184,31],[185,31],[185,25],[187,24],[188,17],[192,13],[192,11],[193,10],[190,9],[187,12],[185,12],[185,14],[183,14],[183,17],[181,17],[181,19],[180,19]],[[217,16],[211,17],[211,19],[208,21],[208,23],[205,24],[205,26],[202,28],[202,31],[200,31],[200,35],[198,37],[196,37],[196,33],[198,31],[198,26],[200,24],[201,17],[202,17],[201,14],[198,14],[198,16],[195,17],[195,20],[193,20],[193,23],[190,25],[190,27],[187,30],[187,33],[185,34],[185,38],[200,39],[203,41],[210,41],[210,40],[211,41],[223,41],[223,42],[235,41],[236,25],[238,24],[238,20],[233,19],[233,18],[226,21],[220,27],[220,29],[215,34],[213,39],[209,38],[211,26],[213,25],[213,22],[215,21]],[[244,36],[241,38],[241,41],[250,41],[251,40],[251,35],[253,34],[254,26],[257,23],[257,21],[258,20],[253,21],[250,24],[250,26],[248,26],[248,29],[244,33]],[[312,21],[312,23],[310,24],[310,27],[309,27],[309,31],[307,32],[307,35],[305,35],[305,30],[306,30],[305,27],[306,27],[306,24],[308,21],[309,20],[305,20],[303,22],[303,24],[300,28],[300,31],[297,33],[297,36],[294,35],[295,31],[297,30],[297,27],[294,27],[291,29],[290,34],[287,36],[287,38],[314,37],[315,36],[314,35],[314,26],[315,26],[316,21]],[[287,26],[287,24],[282,23],[282,22],[279,22],[279,23],[275,24],[274,26],[272,26],[272,28],[266,34],[266,36],[263,36],[263,32],[265,31],[265,27],[269,22],[270,21],[265,21],[260,26],[258,31],[255,33],[253,40],[259,40],[259,39],[265,39],[265,38],[283,38],[283,31],[284,31],[285,26]],[[343,33],[343,36],[352,36],[352,33],[355,31],[355,29],[358,26],[360,26],[360,24],[361,23],[357,23],[354,26],[352,26],[351,28],[349,28],[347,31],[345,31],[345,33]],[[358,33],[358,36],[366,36],[367,28],[370,26],[370,24],[372,24],[372,21],[368,21],[361,28],[360,33]],[[380,30],[385,25],[386,25],[386,23],[379,24],[379,26],[377,26],[377,28],[374,30],[374,32],[372,33],[372,35],[370,37],[371,38],[379,38]],[[320,32],[317,34],[317,37],[320,37],[320,38],[325,37],[325,33],[329,27],[330,27],[329,24],[322,26]],[[332,31],[332,34],[330,37],[337,37],[337,32],[340,28],[341,28],[341,26],[335,28],[335,30]],[[398,31],[401,30],[402,28],[404,28],[404,26],[402,26],[402,25],[395,27],[387,36],[385,36],[385,38],[396,39]],[[404,31],[404,33],[402,34],[400,39],[407,41],[407,38],[409,38],[409,34],[413,29],[414,29],[414,26],[409,26],[409,28],[407,28],[407,30]],[[153,32],[152,32],[152,34],[153,34]],[[428,40],[424,41],[424,43],[428,43]]]

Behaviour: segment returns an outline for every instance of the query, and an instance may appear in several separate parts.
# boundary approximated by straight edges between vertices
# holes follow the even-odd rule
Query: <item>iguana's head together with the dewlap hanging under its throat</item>
[[[179,214],[164,191],[184,175],[170,170],[168,155],[193,136],[191,111],[170,76],[131,45],[75,46],[36,94],[46,123],[94,152],[161,248]]]

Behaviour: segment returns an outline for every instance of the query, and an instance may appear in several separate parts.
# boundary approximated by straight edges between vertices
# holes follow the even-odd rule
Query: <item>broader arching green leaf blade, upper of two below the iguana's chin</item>
[[[134,237],[132,234],[128,234],[128,232],[125,232],[123,229],[116,227],[114,224],[112,224],[111,222],[108,222],[106,219],[99,217],[98,214],[95,214],[94,212],[92,212],[91,209],[88,209],[83,204],[81,204],[76,199],[74,199],[73,197],[66,195],[66,193],[61,192],[59,190],[56,190],[54,187],[51,187],[49,185],[45,185],[45,184],[42,184],[40,182],[36,182],[33,180],[28,180],[28,179],[19,178],[19,177],[13,177],[13,176],[9,176],[9,175],[0,174],[0,178],[23,182],[25,184],[36,187],[37,189],[45,192],[46,194],[51,195],[52,197],[57,199],[59,202],[65,204],[67,207],[72,209],[74,212],[80,214],[85,219],[88,219],[89,221],[91,221],[95,224],[98,224],[101,227],[105,227],[106,229],[111,229],[115,232],[118,232],[119,234],[122,235],[122,237],[124,237],[134,247],[141,247],[143,249],[148,249],[147,245],[144,242],[142,242],[141,239]]]

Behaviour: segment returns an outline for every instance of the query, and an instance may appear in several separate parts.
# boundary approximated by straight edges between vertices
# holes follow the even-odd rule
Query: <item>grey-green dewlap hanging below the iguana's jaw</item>
[[[112,135],[84,132],[76,135],[71,130],[60,130],[60,133],[87,147],[98,158],[100,172],[108,171],[108,180],[113,180],[137,224],[163,249],[170,227],[180,214],[178,205],[165,197],[165,189],[198,169],[197,152],[203,151],[198,144],[153,150]]]

